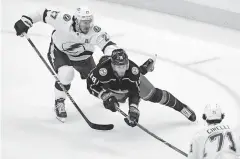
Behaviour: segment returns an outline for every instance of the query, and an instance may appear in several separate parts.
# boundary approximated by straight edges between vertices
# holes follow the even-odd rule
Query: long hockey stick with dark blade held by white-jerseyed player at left
[[[114,125],[113,124],[107,124],[107,125],[100,125],[100,124],[95,124],[92,123],[86,116],[85,114],[82,112],[82,110],[78,107],[77,103],[73,100],[72,96],[68,93],[68,91],[65,89],[64,85],[60,82],[60,80],[57,77],[57,74],[52,70],[52,68],[48,65],[48,63],[46,62],[46,60],[43,58],[43,56],[41,55],[41,53],[38,51],[38,49],[36,48],[36,46],[33,44],[32,40],[27,36],[26,33],[23,33],[23,35],[25,36],[25,38],[28,40],[28,42],[31,44],[31,46],[33,47],[33,49],[36,51],[36,53],[38,54],[38,56],[40,57],[40,59],[42,60],[42,62],[45,64],[45,66],[47,67],[47,69],[51,72],[51,74],[54,76],[55,80],[57,81],[57,83],[59,84],[59,86],[63,89],[63,91],[66,93],[67,97],[71,100],[71,102],[73,103],[73,105],[75,106],[75,108],[78,110],[78,112],[82,115],[82,117],[84,118],[84,120],[87,122],[87,124],[92,128],[92,129],[97,129],[97,130],[112,130]]]

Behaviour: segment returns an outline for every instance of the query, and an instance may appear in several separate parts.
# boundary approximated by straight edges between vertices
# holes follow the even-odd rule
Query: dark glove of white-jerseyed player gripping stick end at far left
[[[14,25],[17,36],[21,36],[23,33],[27,33],[28,29],[32,27],[32,25],[33,22],[31,18],[22,16],[22,18],[18,20]]]

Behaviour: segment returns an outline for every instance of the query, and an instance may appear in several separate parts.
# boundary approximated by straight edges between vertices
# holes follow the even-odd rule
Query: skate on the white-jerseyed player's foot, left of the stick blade
[[[64,103],[65,99],[63,98],[59,98],[55,100],[55,112],[56,112],[56,118],[61,121],[61,122],[65,122],[66,118],[67,118],[67,112],[65,110],[65,103]]]

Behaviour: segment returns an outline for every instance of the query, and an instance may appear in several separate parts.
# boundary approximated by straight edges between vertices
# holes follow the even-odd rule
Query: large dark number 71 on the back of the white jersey
[[[229,146],[229,148],[231,150],[233,150],[234,152],[236,152],[236,147],[235,147],[235,143],[233,141],[233,137],[232,137],[232,133],[231,132],[227,132],[225,135],[223,133],[214,134],[214,135],[210,136],[210,141],[213,142],[216,139],[218,139],[217,151],[220,151],[222,149],[222,146],[224,144],[224,140],[225,140],[226,137],[228,138],[228,140],[231,143],[231,146]]]

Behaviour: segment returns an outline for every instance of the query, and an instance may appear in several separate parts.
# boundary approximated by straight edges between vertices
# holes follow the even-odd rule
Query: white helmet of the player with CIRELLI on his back
[[[224,113],[218,104],[208,104],[206,105],[203,113],[203,119],[206,121],[212,120],[222,120],[224,118]]]

